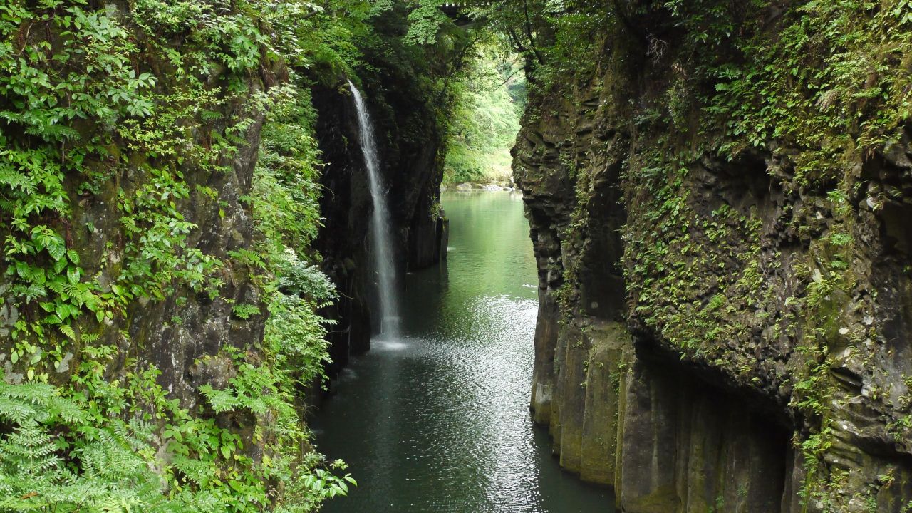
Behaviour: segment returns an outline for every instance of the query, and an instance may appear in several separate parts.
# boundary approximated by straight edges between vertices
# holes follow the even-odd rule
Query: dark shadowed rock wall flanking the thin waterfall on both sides
[[[377,130],[384,186],[389,188],[393,251],[399,276],[404,276],[406,270],[429,267],[441,257],[446,220],[440,211],[443,154],[436,122],[440,106],[414,77],[396,66],[381,65],[378,75],[368,79],[365,95]],[[327,317],[338,320],[329,335],[335,372],[349,354],[368,351],[370,336],[378,330],[377,316],[371,315],[378,304],[378,277],[368,240],[373,205],[347,84],[342,81],[335,88],[318,90],[315,105],[326,160],[326,194],[321,204],[326,220],[316,246],[325,257],[326,274],[341,293],[337,305],[326,311]]]

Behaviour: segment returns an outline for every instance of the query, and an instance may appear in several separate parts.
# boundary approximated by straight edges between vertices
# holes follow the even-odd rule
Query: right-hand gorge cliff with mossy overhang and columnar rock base
[[[912,27],[839,4],[558,28],[585,64],[543,80],[513,150],[532,410],[622,511],[908,510]]]

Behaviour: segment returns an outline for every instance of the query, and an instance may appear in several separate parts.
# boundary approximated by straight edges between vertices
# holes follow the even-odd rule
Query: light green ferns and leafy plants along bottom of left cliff
[[[0,381],[0,420],[14,426],[0,435],[0,508],[261,511],[275,500],[270,480],[294,478],[298,497],[280,506],[309,511],[322,497],[345,492],[347,476],[328,474],[316,455],[295,458],[305,434],[291,390],[269,367],[235,355],[229,388],[201,388],[218,414],[272,419],[268,440],[263,424],[245,439],[169,400],[154,369],[104,380],[114,353],[96,349],[71,388]],[[245,440],[264,445],[261,461],[244,452]]]

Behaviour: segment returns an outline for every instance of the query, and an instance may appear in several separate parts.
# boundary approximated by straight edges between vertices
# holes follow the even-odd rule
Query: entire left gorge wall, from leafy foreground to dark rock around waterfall
[[[425,50],[401,43],[408,5],[347,16],[368,7],[0,5],[0,510],[313,511],[345,493],[304,392],[327,348],[367,346],[369,202],[350,99],[315,84],[378,62],[362,80],[403,266],[439,257],[442,226],[436,89],[401,74]],[[321,307],[351,335],[327,342]]]

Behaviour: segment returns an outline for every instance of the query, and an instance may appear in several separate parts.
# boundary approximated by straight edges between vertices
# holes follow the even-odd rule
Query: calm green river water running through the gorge
[[[528,404],[536,272],[517,193],[444,193],[449,261],[407,277],[399,340],[373,340],[317,414],[358,487],[329,513],[614,511],[563,473]]]

